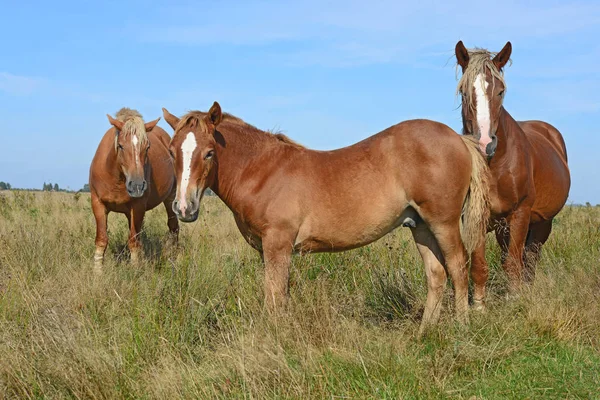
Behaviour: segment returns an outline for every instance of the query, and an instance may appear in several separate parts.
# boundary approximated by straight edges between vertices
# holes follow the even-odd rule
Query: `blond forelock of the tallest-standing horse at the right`
[[[492,59],[496,56],[495,52],[488,51],[486,49],[474,48],[469,49],[469,64],[467,69],[463,71],[463,74],[458,81],[456,87],[456,94],[462,95],[469,108],[472,110],[475,108],[475,99],[472,96],[472,88],[477,79],[477,75],[480,73],[485,74],[486,69],[490,71],[494,79],[502,82],[506,88],[506,82],[504,81],[504,71],[498,70],[496,65],[492,62]],[[512,60],[509,60],[512,64]],[[458,76],[459,65],[456,64],[456,74]]]

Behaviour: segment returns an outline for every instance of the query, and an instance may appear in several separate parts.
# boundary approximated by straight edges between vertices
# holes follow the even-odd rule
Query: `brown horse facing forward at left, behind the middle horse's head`
[[[144,124],[135,110],[121,109],[105,134],[90,167],[92,210],[96,218],[94,261],[101,266],[108,244],[106,225],[110,211],[129,221],[128,246],[136,262],[144,213],[160,203],[167,209],[168,226],[177,239],[179,223],[171,204],[175,198],[175,172],[169,157],[171,138],[156,126],[160,118]]]

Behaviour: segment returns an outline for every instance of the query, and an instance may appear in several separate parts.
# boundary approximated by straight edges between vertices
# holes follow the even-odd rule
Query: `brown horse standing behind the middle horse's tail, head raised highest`
[[[542,121],[517,122],[502,106],[506,89],[502,68],[511,49],[510,42],[497,54],[468,51],[462,41],[456,44],[463,72],[458,84],[463,133],[479,141],[489,160],[489,229],[496,232],[502,266],[514,290],[523,280],[533,280],[552,219],[567,201],[571,178],[560,132]],[[483,307],[488,278],[485,243],[472,255],[471,275],[475,303]]]

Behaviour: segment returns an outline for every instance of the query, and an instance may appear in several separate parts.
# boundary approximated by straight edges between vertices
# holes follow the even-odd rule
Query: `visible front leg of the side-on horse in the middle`
[[[265,262],[265,304],[270,310],[285,307],[289,296],[293,240],[285,232],[268,232],[262,238]]]

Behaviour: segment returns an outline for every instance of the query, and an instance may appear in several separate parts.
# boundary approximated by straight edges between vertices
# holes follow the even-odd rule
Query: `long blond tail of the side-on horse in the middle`
[[[460,236],[470,256],[485,241],[490,217],[490,170],[470,136],[460,136],[471,154],[471,182],[463,203]]]

